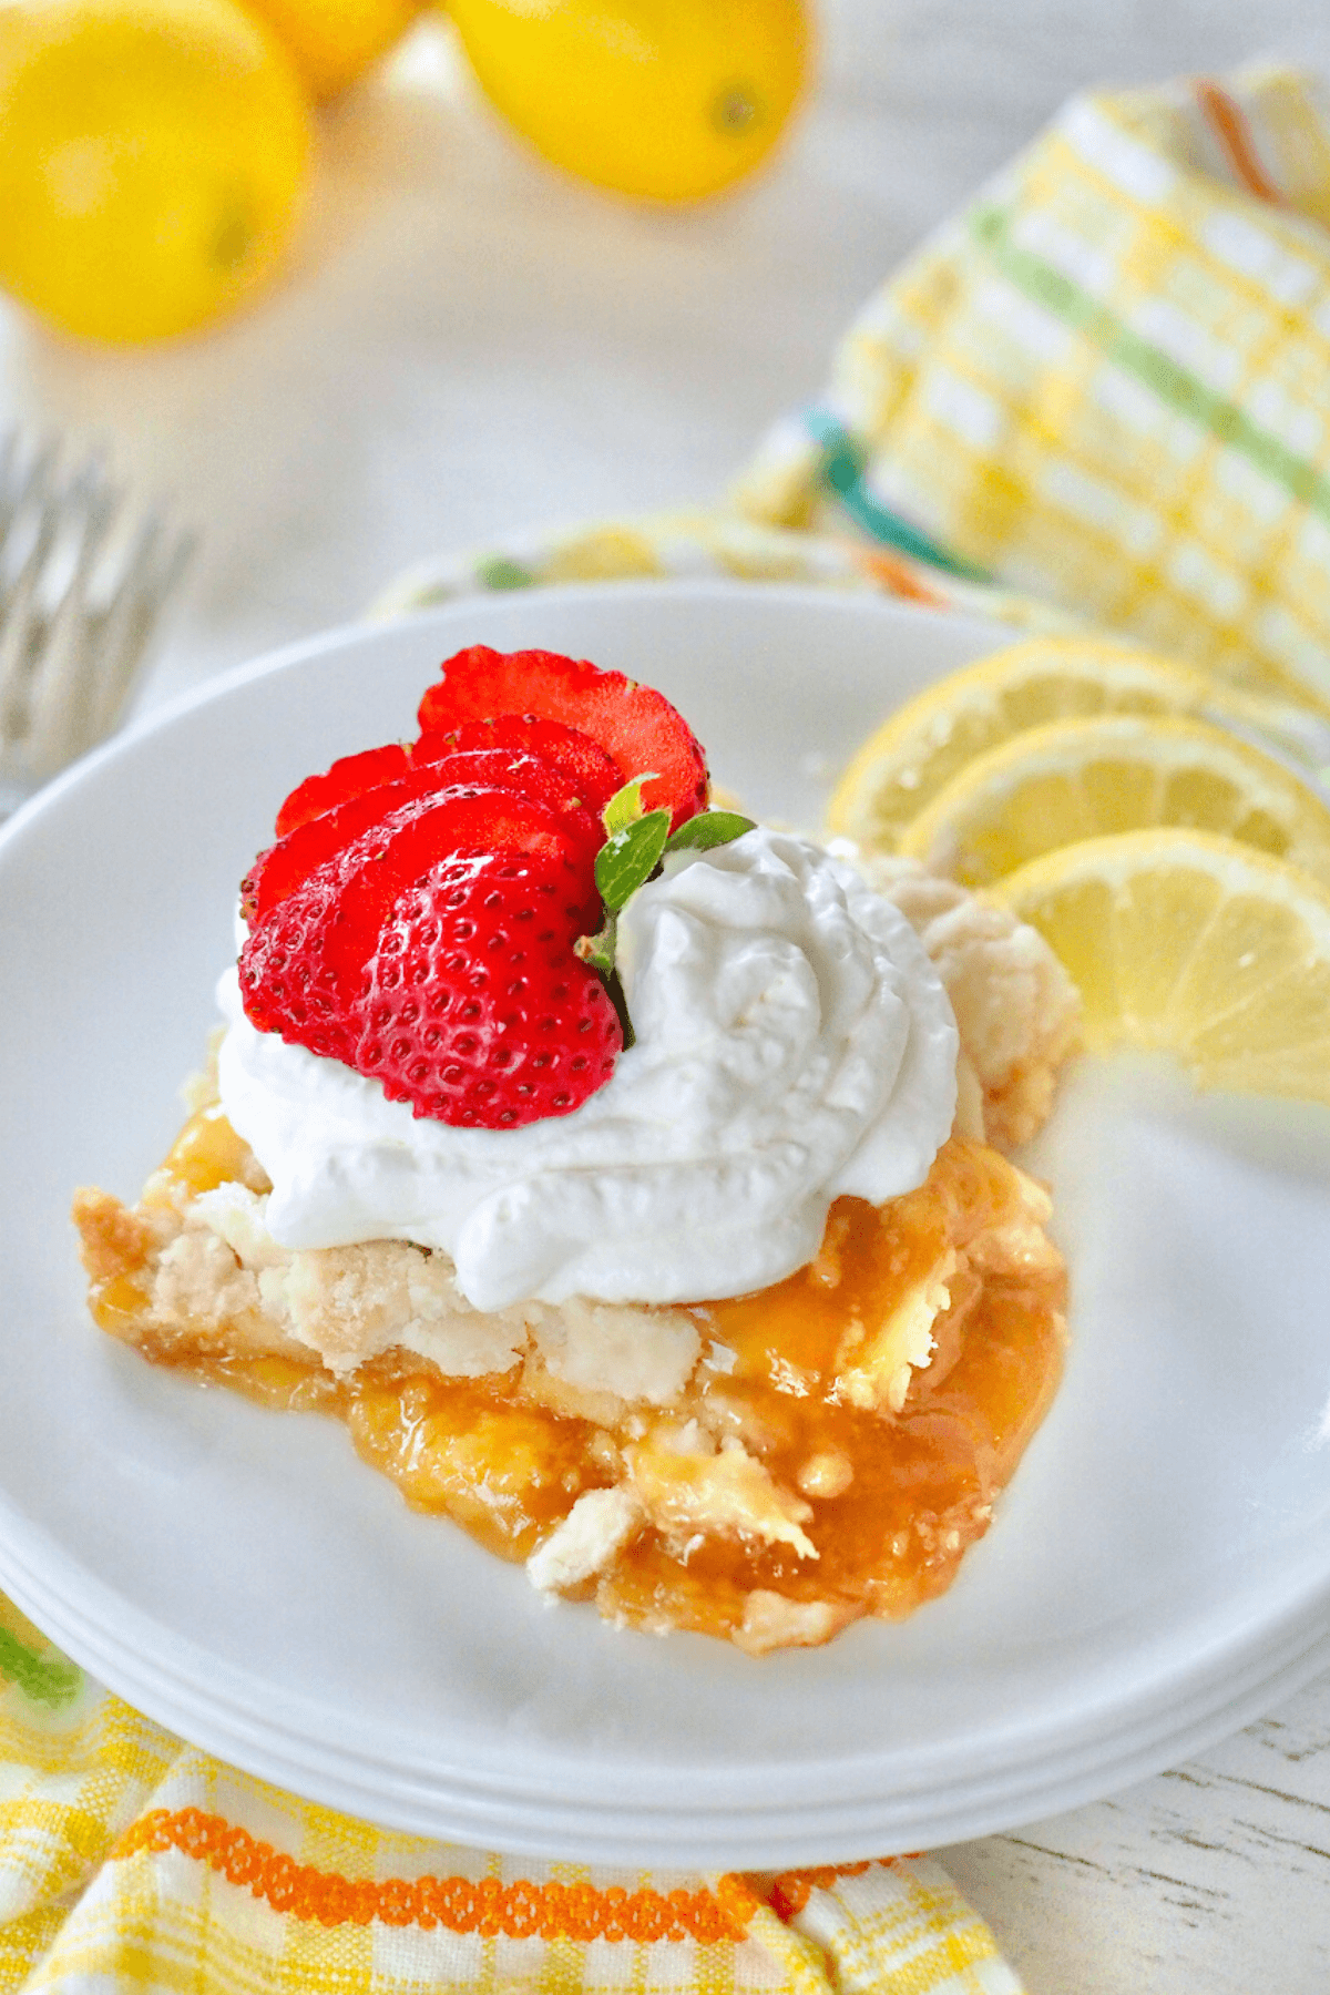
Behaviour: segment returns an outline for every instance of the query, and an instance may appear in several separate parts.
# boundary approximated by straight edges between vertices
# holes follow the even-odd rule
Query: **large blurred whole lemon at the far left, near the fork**
[[[231,0],[0,4],[0,285],[92,339],[181,333],[267,277],[309,112]]]

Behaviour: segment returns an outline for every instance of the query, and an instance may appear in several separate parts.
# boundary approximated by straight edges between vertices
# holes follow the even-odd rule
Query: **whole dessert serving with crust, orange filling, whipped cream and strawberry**
[[[1075,996],[973,896],[704,810],[616,678],[459,654],[287,798],[215,1075],[136,1205],[76,1197],[92,1313],[548,1594],[818,1644],[949,1584],[1057,1387],[1049,1199],[985,1135]]]

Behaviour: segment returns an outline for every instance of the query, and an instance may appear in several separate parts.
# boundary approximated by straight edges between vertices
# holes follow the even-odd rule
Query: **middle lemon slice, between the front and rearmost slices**
[[[1101,714],[1017,734],[945,784],[897,840],[989,886],[1081,838],[1190,826],[1292,860],[1330,886],[1330,808],[1296,774],[1204,720]]]

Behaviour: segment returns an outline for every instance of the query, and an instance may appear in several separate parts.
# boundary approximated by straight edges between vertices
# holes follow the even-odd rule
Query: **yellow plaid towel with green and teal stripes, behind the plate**
[[[1330,98],[1073,100],[869,299],[726,507],[540,529],[377,604],[730,575],[1111,628],[1330,716]]]

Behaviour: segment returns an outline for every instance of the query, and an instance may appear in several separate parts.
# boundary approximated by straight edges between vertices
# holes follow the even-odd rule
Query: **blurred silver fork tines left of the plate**
[[[118,726],[195,547],[60,455],[0,437],[0,818]]]

